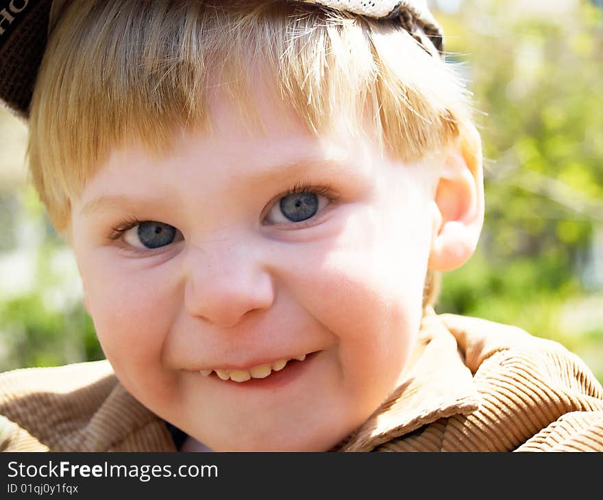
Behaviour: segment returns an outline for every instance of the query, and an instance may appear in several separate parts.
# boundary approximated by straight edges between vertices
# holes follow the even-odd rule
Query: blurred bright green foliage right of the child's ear
[[[476,254],[445,275],[436,310],[558,340],[603,381],[603,294],[585,266],[603,231],[603,12],[492,0],[436,18],[482,112],[486,195]]]

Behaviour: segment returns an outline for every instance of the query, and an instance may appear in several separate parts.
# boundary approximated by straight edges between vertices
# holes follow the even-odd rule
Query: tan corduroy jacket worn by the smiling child
[[[576,355],[523,330],[423,320],[404,382],[332,451],[603,451],[603,388]],[[176,451],[106,361],[0,375],[2,451]]]

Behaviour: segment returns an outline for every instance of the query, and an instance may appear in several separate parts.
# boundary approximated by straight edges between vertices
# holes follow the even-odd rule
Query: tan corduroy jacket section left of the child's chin
[[[106,361],[11,371],[0,394],[0,450],[175,451],[164,422]]]

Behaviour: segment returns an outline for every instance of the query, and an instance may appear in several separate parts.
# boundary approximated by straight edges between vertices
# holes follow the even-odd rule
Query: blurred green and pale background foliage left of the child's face
[[[0,371],[103,359],[71,250],[27,182],[27,127],[0,109],[0,136]]]

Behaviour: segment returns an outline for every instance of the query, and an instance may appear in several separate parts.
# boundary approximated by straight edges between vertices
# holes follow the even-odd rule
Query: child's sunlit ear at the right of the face
[[[445,149],[434,196],[432,271],[452,271],[473,255],[484,222],[482,143],[473,125]]]

